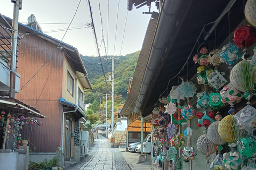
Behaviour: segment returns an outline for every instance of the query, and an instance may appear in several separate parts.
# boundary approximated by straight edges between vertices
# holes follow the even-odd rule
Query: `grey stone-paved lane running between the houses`
[[[82,162],[73,167],[65,168],[68,170],[82,170],[82,169],[94,169],[94,170],[127,170],[130,169],[127,163],[119,152],[118,148],[111,148],[110,142],[102,135],[98,135],[98,139],[95,142],[87,156]]]

